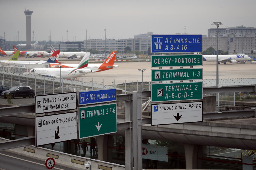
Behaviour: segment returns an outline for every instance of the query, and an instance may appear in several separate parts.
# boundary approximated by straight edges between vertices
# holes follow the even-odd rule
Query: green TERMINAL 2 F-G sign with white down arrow
[[[79,108],[79,139],[117,132],[117,104]]]

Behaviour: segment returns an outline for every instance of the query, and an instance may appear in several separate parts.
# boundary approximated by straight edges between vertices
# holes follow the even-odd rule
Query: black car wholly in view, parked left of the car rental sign
[[[15,97],[27,97],[33,98],[35,95],[34,90],[29,86],[13,86],[9,90],[3,91],[2,96],[7,98],[6,95],[9,94],[12,99]]]

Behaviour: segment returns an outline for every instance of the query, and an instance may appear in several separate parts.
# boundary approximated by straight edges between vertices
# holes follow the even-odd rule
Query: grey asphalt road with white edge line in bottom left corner
[[[45,162],[28,158],[21,155],[12,154],[5,151],[0,151],[0,169],[4,170],[13,170],[13,169],[19,169],[19,170],[27,170],[27,169],[37,169],[37,170],[45,170]],[[59,170],[68,170],[70,168],[62,167],[55,164],[55,167],[53,169],[59,169]]]

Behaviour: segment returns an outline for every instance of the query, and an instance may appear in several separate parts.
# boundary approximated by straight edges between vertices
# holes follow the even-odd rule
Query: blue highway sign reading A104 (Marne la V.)
[[[94,104],[111,102],[117,100],[117,92],[115,88],[91,91],[79,91],[79,104]]]

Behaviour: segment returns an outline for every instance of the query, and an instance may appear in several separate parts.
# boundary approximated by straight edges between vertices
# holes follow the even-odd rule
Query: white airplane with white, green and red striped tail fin
[[[81,75],[91,73],[91,69],[86,69],[89,61],[89,55],[84,56],[76,68],[36,68],[29,72],[32,74],[47,75],[51,77],[62,77],[65,79],[79,77]],[[61,71],[61,72],[60,72]]]

